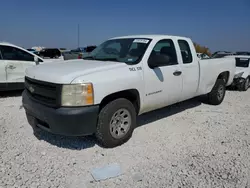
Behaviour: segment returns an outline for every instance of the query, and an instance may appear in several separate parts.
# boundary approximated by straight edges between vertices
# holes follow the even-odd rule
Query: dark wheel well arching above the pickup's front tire
[[[112,93],[108,96],[106,96],[100,104],[100,110],[107,105],[109,102],[119,99],[119,98],[125,98],[129,100],[135,107],[136,113],[139,113],[140,110],[140,95],[139,92],[136,89],[129,89],[129,90],[123,90],[116,93]]]

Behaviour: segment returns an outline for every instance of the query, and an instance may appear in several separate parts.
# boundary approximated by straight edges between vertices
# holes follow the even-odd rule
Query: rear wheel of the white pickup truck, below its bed
[[[219,105],[224,100],[226,94],[226,83],[223,79],[218,79],[210,93],[208,93],[208,103]]]

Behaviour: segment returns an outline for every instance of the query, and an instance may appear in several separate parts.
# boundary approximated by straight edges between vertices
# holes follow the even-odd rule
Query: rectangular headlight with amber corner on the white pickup
[[[62,106],[86,106],[92,104],[94,104],[94,93],[91,83],[62,86]]]

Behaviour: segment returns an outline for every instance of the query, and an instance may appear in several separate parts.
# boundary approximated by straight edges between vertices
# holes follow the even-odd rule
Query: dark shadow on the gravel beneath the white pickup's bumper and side
[[[202,104],[201,101],[202,99],[194,98],[188,101],[184,101],[178,104],[174,104],[159,110],[143,114],[138,117],[137,127],[180,113],[187,109],[197,107]],[[60,148],[66,148],[71,150],[84,150],[87,148],[94,147],[95,145],[100,146],[99,143],[94,138],[94,136],[85,136],[85,137],[60,136],[48,133],[46,131],[41,130],[40,128],[36,128],[36,130],[34,130],[34,135],[39,140],[43,140]]]

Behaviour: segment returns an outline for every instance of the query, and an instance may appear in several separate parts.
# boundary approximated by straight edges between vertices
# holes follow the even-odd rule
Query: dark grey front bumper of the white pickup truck
[[[22,103],[32,127],[65,136],[91,135],[96,131],[98,105],[52,108],[34,101],[27,91],[22,94]]]

